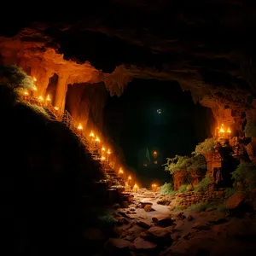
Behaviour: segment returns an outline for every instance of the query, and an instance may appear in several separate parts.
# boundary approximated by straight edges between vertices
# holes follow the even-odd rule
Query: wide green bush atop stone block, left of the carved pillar
[[[207,170],[207,162],[201,154],[192,157],[175,155],[174,158],[167,158],[167,163],[164,166],[165,171],[169,171],[171,174],[177,171],[195,172]]]

